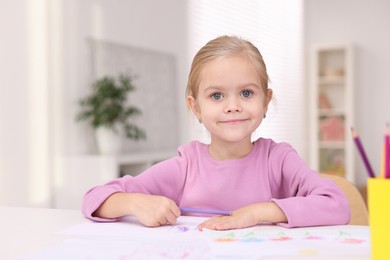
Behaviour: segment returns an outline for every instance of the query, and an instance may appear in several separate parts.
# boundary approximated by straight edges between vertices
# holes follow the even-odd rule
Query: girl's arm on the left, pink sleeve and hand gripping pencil
[[[82,213],[94,221],[112,222],[132,215],[147,226],[176,223],[186,178],[186,161],[174,157],[133,177],[124,176],[91,188]],[[159,224],[160,223],[160,224]]]

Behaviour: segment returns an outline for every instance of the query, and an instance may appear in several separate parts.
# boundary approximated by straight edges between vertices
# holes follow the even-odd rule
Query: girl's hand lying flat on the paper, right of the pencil
[[[287,222],[284,212],[273,202],[251,204],[237,209],[230,216],[217,216],[206,220],[198,226],[213,230],[228,230],[252,227],[259,222]]]

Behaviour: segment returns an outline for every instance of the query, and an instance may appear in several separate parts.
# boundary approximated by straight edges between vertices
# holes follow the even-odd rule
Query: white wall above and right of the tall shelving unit
[[[355,128],[379,174],[386,122],[390,122],[390,1],[306,0],[306,47],[317,43],[352,43],[355,57]],[[308,50],[308,48],[306,48]],[[367,174],[356,155],[357,184]]]

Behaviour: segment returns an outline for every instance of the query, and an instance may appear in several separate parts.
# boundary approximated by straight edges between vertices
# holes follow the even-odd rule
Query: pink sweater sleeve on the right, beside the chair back
[[[348,200],[329,179],[310,170],[289,145],[280,145],[270,162],[272,199],[285,213],[285,227],[340,225],[350,220]]]

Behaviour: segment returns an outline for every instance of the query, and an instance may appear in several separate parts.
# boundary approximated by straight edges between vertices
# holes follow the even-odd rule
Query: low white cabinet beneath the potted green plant
[[[53,180],[53,206],[80,209],[88,189],[124,175],[138,175],[153,164],[176,154],[176,150],[164,150],[122,155],[58,157]]]

